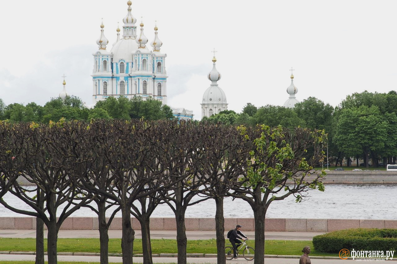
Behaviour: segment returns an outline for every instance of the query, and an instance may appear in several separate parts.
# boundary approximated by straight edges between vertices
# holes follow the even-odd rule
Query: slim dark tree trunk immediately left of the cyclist
[[[216,203],[215,228],[216,228],[216,249],[218,253],[218,264],[226,263],[225,218],[223,214],[223,200],[224,197],[215,197],[215,203]]]

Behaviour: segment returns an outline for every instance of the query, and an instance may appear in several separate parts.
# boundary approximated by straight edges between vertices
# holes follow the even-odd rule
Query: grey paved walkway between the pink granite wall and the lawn
[[[241,230],[247,237],[254,238],[254,231]],[[226,237],[225,232],[225,237]],[[266,239],[277,240],[312,240],[315,235],[321,235],[324,232],[266,232]],[[44,230],[44,237],[47,231]],[[215,238],[215,231],[186,231],[187,239],[211,239]],[[27,238],[36,237],[36,230],[17,230],[1,229],[0,237],[17,237]],[[98,230],[59,230],[58,238],[99,238]],[[176,239],[176,231],[172,230],[150,230],[152,239]],[[121,230],[109,230],[109,238],[121,238]],[[141,238],[141,230],[135,230],[135,238]]]

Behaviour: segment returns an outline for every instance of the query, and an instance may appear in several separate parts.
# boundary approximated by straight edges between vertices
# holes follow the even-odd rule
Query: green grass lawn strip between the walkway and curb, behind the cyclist
[[[46,248],[47,240],[44,239]],[[0,251],[35,251],[34,238],[0,238]],[[228,243],[228,241],[227,241]],[[109,253],[121,253],[121,240],[109,239]],[[254,247],[254,241],[249,240],[248,245]],[[296,240],[266,240],[265,254],[271,255],[301,255],[302,249],[309,246],[311,256],[338,256],[337,254],[320,253],[314,250],[312,241]],[[95,252],[98,253],[98,238],[60,238],[58,239],[58,252]],[[175,239],[152,239],[152,253],[177,253]],[[187,253],[216,254],[216,239],[188,240]],[[142,240],[134,240],[134,254],[142,254]]]

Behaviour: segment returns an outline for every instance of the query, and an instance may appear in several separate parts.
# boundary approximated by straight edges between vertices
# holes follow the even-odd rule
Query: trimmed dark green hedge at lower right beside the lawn
[[[316,251],[339,253],[341,249],[397,250],[397,229],[351,228],[313,237]]]

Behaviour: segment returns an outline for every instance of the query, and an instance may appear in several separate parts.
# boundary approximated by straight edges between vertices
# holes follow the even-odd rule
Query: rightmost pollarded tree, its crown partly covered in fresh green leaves
[[[253,130],[240,126],[238,129],[246,140],[253,142],[253,148],[242,150],[248,152],[250,158],[241,181],[233,184],[229,195],[247,201],[254,212],[254,263],[262,264],[264,220],[270,203],[290,195],[300,202],[308,190],[324,190],[321,180],[325,172],[314,171],[312,165],[323,158],[321,144],[326,135],[324,130],[281,126],[270,128],[262,125]]]

